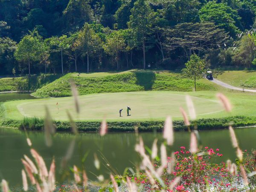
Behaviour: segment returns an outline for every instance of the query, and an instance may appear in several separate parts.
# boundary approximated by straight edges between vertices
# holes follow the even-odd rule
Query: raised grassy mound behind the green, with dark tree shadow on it
[[[79,76],[78,76],[79,75]],[[37,97],[71,96],[70,77],[78,87],[79,95],[112,92],[179,91],[194,89],[193,80],[180,73],[169,71],[128,71],[121,73],[67,74],[38,89]],[[216,90],[217,86],[202,79],[197,81],[197,90]]]

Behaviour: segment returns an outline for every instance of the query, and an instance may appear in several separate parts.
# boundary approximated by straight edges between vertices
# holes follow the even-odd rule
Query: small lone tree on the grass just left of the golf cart
[[[194,81],[197,78],[202,78],[205,73],[205,62],[196,54],[190,56],[190,60],[185,63],[185,66],[186,67],[182,69],[183,74],[189,78],[194,78]]]

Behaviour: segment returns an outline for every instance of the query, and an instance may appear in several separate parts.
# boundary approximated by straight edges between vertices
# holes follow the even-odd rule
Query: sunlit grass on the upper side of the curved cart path
[[[214,76],[233,86],[256,88],[256,71],[224,71],[216,72]]]

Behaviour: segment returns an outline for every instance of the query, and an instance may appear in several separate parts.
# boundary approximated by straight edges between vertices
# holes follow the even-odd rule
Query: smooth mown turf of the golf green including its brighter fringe
[[[184,95],[189,94],[195,103],[198,118],[218,118],[236,115],[255,116],[256,95],[252,93],[226,92],[225,95],[233,103],[233,112],[222,111],[216,102],[216,92],[126,92],[105,93],[79,96],[81,112],[75,115],[73,97],[61,97],[38,100],[18,100],[4,103],[6,116],[15,119],[27,117],[43,117],[45,106],[49,107],[55,120],[67,120],[66,111],[77,120],[163,120],[167,115],[174,119],[182,119],[179,107],[186,109]],[[58,106],[56,103],[58,102]],[[126,116],[126,105],[131,107],[131,116]],[[59,108],[59,111],[58,111]],[[119,109],[123,109],[123,117],[119,117]]]

